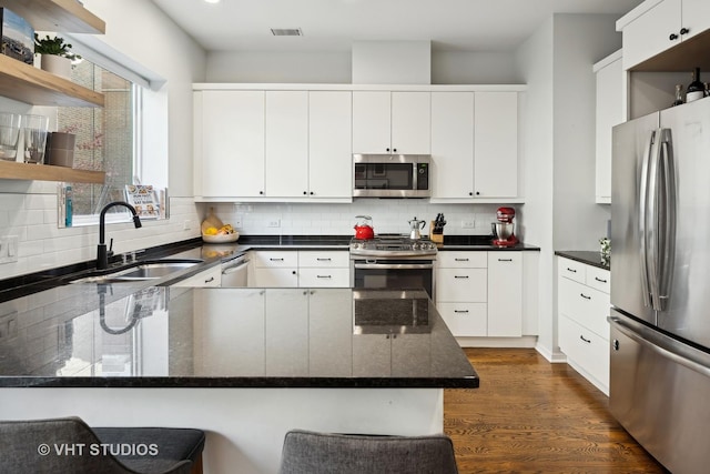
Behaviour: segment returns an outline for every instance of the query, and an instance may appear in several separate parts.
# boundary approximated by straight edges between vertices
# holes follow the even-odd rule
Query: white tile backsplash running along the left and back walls
[[[18,261],[0,264],[0,280],[43,271],[97,255],[98,225],[60,229],[57,184],[17,183],[0,192],[0,238],[18,236]],[[429,222],[443,212],[449,235],[489,234],[498,204],[432,204],[426,200],[359,199],[347,204],[328,203],[197,203],[192,198],[171,198],[170,219],[106,225],[115,253],[179,242],[200,236],[200,224],[210,208],[243,235],[352,235],[355,216],[372,215],[377,233],[407,234],[415,216]],[[516,222],[520,222],[519,220]],[[473,226],[471,226],[473,225]]]

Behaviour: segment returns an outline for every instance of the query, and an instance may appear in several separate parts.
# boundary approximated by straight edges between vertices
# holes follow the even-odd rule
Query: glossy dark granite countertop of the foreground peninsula
[[[70,285],[0,312],[2,387],[477,387],[420,290]],[[116,289],[116,290],[118,290]],[[4,303],[6,305],[10,303]],[[7,310],[7,306],[6,309]]]

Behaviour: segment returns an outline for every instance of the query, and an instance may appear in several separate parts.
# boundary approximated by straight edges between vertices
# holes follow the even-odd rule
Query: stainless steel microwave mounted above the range
[[[355,198],[429,198],[428,154],[354,154]]]

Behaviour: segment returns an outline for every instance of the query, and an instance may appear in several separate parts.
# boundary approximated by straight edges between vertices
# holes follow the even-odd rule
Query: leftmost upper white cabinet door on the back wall
[[[264,192],[264,92],[202,92],[202,195]]]

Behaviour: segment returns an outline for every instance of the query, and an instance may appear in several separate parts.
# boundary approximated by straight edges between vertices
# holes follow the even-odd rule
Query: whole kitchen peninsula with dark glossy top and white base
[[[273,473],[291,428],[440,433],[479,383],[422,290],[88,286],[2,303],[2,418],[199,427],[205,472]]]

